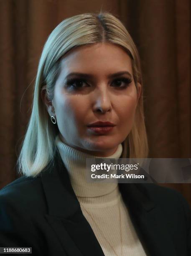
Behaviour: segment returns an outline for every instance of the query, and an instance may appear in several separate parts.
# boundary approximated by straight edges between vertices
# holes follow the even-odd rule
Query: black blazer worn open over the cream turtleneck
[[[179,192],[156,184],[119,188],[147,255],[191,256],[191,209]],[[32,247],[39,256],[104,256],[59,154],[38,177],[20,177],[0,190],[5,246]]]

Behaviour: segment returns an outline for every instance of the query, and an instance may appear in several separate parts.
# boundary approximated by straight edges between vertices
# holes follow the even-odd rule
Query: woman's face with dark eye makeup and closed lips
[[[137,87],[138,90],[125,50],[110,43],[98,43],[79,46],[65,55],[53,100],[43,100],[49,115],[56,117],[64,143],[105,157],[115,153],[132,129],[141,85]],[[115,126],[88,126],[97,121]]]

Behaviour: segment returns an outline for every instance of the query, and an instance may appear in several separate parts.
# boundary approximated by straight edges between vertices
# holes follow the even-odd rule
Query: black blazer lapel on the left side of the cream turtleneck
[[[81,211],[66,167],[58,155],[53,168],[41,172],[41,181],[48,205],[45,218],[67,255],[104,256],[91,226]]]

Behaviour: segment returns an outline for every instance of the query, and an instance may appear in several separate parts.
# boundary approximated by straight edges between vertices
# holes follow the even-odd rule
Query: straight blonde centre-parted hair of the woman
[[[41,90],[46,85],[49,100],[53,99],[56,79],[61,69],[61,59],[74,47],[100,42],[110,42],[123,47],[131,58],[135,85],[142,83],[138,51],[125,26],[108,12],[84,13],[63,20],[48,36],[38,64],[31,118],[18,157],[18,173],[35,177],[48,164],[53,163],[56,152],[55,138],[59,133],[53,125]],[[122,142],[121,158],[146,158],[148,141],[143,112],[143,90],[138,101],[135,120],[129,135]]]

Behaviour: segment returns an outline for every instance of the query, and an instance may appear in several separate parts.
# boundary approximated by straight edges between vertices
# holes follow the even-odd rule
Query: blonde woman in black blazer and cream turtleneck
[[[63,20],[39,62],[18,159],[23,177],[0,192],[0,246],[34,255],[191,255],[191,212],[180,193],[86,180],[87,158],[147,156],[129,33],[106,12]]]

